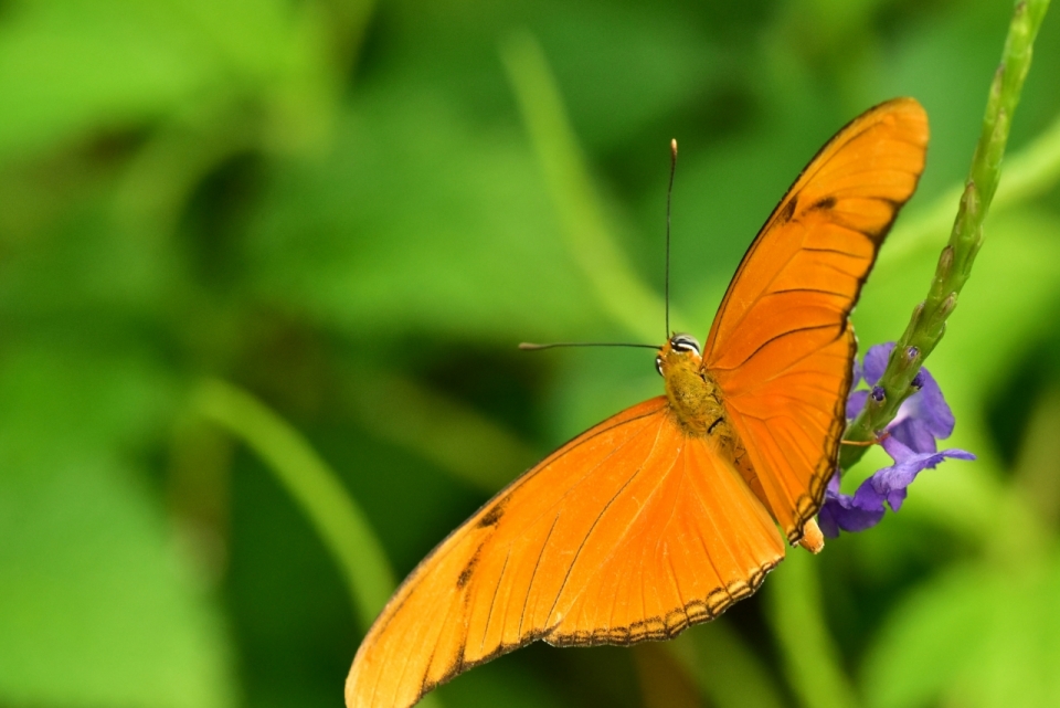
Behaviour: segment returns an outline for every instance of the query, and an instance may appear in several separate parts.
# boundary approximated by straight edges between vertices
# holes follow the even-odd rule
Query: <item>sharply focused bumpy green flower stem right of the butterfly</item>
[[[861,414],[847,429],[846,440],[876,440],[878,431],[894,420],[902,401],[916,391],[912,382],[924,359],[945,334],[946,319],[957,306],[957,295],[967,282],[972,264],[983,245],[983,220],[997,190],[1013,114],[1030,68],[1035,36],[1048,8],[1049,0],[1020,0],[1016,3],[1001,64],[990,85],[983,130],[972,157],[972,169],[961,197],[950,243],[939,257],[928,297],[913,308],[905,332],[891,352],[887,370],[879,381],[883,397],[881,400],[869,397]],[[840,467],[848,469],[861,458],[865,451],[863,446],[844,446]]]

